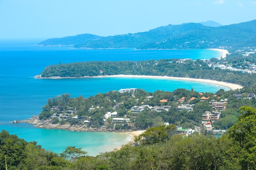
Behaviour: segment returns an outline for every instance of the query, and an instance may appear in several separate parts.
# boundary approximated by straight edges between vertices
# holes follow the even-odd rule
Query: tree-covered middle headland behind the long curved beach
[[[177,59],[176,59],[177,60]],[[234,59],[230,59],[234,60]],[[103,73],[100,73],[100,71]],[[256,86],[256,74],[245,74],[239,71],[211,68],[200,60],[186,61],[178,64],[175,59],[150,61],[118,61],[118,62],[76,62],[47,66],[41,73],[42,77],[84,77],[98,75],[157,75],[172,77],[189,77],[199,79],[213,79],[217,81]]]

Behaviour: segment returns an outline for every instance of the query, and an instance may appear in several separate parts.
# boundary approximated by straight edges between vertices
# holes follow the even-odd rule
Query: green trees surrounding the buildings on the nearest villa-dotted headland
[[[60,110],[66,110],[66,108],[76,108],[77,113],[74,113],[65,121],[58,121],[58,119],[53,118],[52,124],[81,124],[77,119],[73,119],[75,115],[83,117],[90,121],[87,127],[97,127],[106,126],[106,128],[113,128],[115,130],[123,129],[146,129],[148,127],[161,126],[164,122],[174,124],[176,126],[182,126],[183,128],[193,128],[201,124],[202,114],[205,111],[212,111],[213,108],[209,105],[211,100],[228,99],[228,104],[226,109],[221,113],[221,119],[214,123],[216,129],[228,129],[237,122],[237,118],[240,115],[239,108],[241,106],[252,106],[256,107],[256,99],[245,99],[233,96],[236,93],[255,93],[254,88],[242,88],[236,91],[224,91],[220,89],[215,94],[213,93],[198,93],[196,91],[189,91],[186,89],[176,89],[173,92],[167,91],[155,91],[154,93],[146,92],[142,89],[138,89],[137,93],[132,96],[132,93],[119,93],[117,91],[110,91],[108,93],[99,93],[95,96],[90,96],[84,98],[70,97],[70,94],[59,95],[54,98],[50,98],[47,104],[43,107],[42,113],[40,113],[40,119],[47,119],[51,117],[55,112],[50,111],[52,106],[59,106]],[[216,95],[216,96],[214,96]],[[153,96],[148,100],[147,96]],[[201,97],[209,97],[206,102],[200,102]],[[180,103],[178,99],[185,97],[185,102]],[[189,101],[192,97],[194,100]],[[160,100],[167,99],[168,102],[161,103]],[[118,103],[117,103],[118,101]],[[117,107],[117,104],[120,104]],[[192,111],[178,111],[177,106],[181,104],[194,104]],[[141,113],[131,113],[130,109],[133,106],[171,106],[171,108],[162,112],[151,111],[149,108],[143,110]],[[94,110],[89,110],[94,106]],[[99,106],[97,108],[97,106]],[[129,124],[120,124],[115,126],[115,123],[108,119],[108,124],[103,121],[103,116],[107,112],[117,111],[117,117],[127,117],[130,118]]]

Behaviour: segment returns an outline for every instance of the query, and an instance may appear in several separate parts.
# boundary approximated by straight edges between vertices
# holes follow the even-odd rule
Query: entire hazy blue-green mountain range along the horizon
[[[108,37],[82,34],[45,40],[40,45],[73,45],[89,49],[239,49],[256,46],[256,20],[218,27],[200,23],[170,24],[146,32]]]

